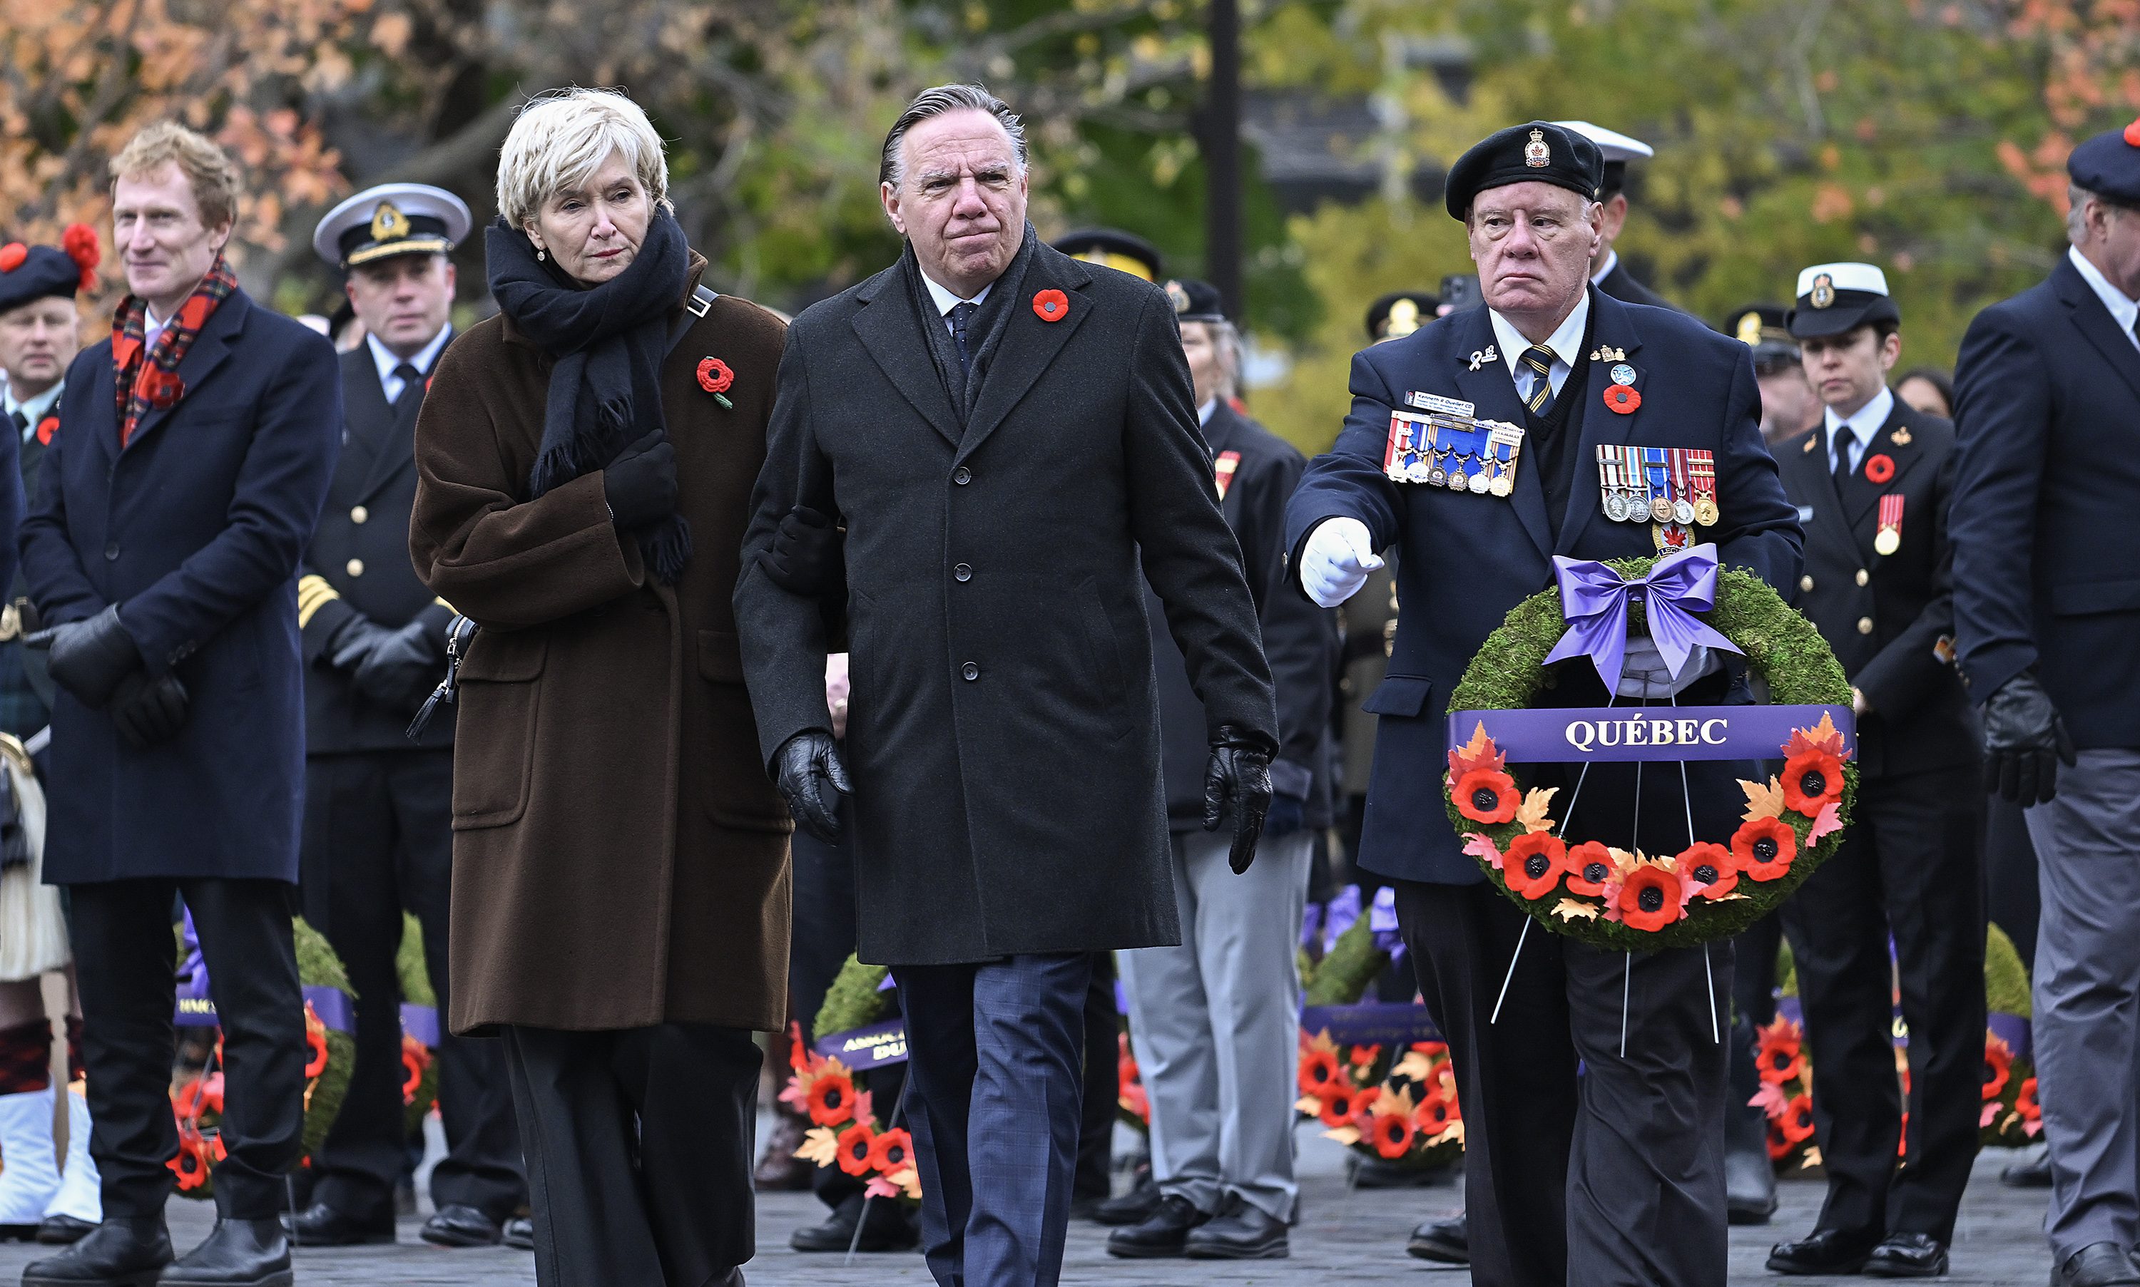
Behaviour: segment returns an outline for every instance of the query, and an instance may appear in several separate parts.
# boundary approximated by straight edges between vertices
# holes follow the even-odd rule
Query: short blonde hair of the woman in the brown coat
[[[621,90],[537,94],[499,152],[499,214],[524,229],[544,201],[595,177],[610,152],[623,152],[646,197],[670,210],[668,154],[638,103]]]

